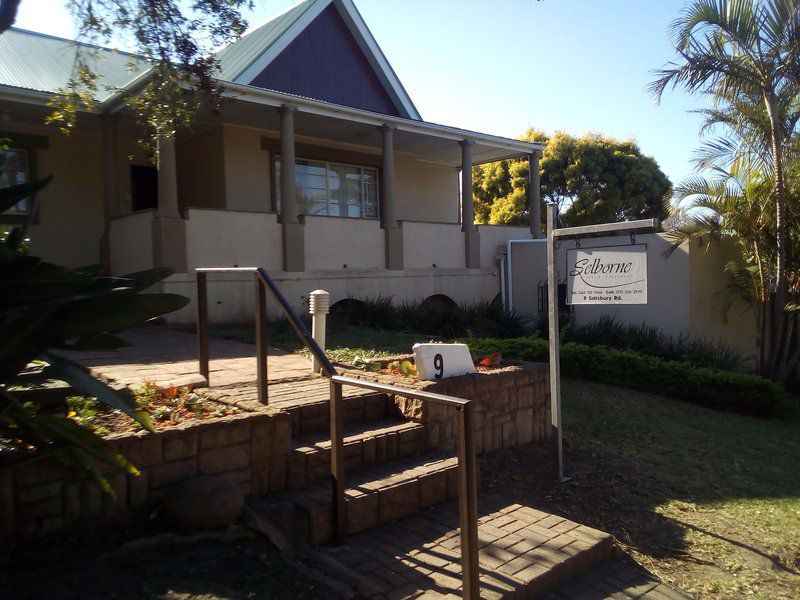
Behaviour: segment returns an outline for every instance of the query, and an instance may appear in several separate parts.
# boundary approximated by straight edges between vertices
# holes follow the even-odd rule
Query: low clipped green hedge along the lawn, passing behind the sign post
[[[475,354],[501,352],[504,358],[549,361],[549,346],[538,337],[466,340]],[[561,372],[566,377],[621,385],[693,402],[710,408],[759,417],[785,417],[797,402],[783,387],[757,375],[709,368],[654,356],[587,346],[561,346]]]

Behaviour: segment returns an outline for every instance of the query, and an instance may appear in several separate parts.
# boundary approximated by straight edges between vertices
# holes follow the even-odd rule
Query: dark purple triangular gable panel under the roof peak
[[[251,85],[401,116],[333,4]]]

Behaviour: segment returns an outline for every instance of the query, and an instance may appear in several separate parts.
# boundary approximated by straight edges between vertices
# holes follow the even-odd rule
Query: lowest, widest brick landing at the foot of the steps
[[[481,598],[542,597],[613,551],[609,534],[529,506],[482,494],[478,507]],[[461,596],[457,502],[421,510],[320,551],[331,574],[356,575],[351,581],[364,598]]]

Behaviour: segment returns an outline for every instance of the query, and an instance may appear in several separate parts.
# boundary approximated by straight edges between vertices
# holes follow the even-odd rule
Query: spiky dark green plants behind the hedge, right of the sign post
[[[665,334],[655,325],[622,323],[603,315],[585,325],[573,326],[564,339],[579,344],[633,350],[665,360],[686,361],[695,367],[732,371],[741,366],[742,355],[722,344],[681,334]]]

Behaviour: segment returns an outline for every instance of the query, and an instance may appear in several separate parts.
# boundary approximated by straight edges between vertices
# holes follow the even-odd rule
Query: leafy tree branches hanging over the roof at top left
[[[13,24],[19,4],[0,0],[0,33]],[[132,70],[148,69],[140,86],[113,91],[135,111],[143,141],[152,142],[190,125],[204,104],[219,108],[223,87],[214,78],[212,51],[244,33],[242,10],[252,0],[69,0],[67,6],[77,41],[86,44],[78,47],[67,87],[53,98],[49,122],[69,132],[79,111],[94,110],[94,93],[103,85],[93,66],[97,46],[121,43],[137,55]]]

